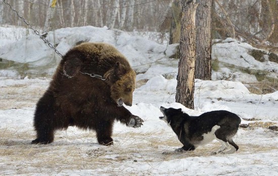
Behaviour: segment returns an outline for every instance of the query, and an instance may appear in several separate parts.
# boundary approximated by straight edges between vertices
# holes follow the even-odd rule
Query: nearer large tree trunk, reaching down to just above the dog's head
[[[176,102],[194,109],[194,71],[196,60],[196,0],[181,0],[181,29]]]

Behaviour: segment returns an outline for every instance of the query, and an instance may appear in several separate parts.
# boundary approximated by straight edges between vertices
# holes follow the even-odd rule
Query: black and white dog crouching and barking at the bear
[[[241,119],[235,113],[226,110],[205,112],[200,116],[190,116],[181,111],[181,108],[160,107],[164,116],[159,119],[165,121],[175,132],[183,147],[175,151],[195,150],[198,146],[218,140],[222,146],[212,154],[234,153],[239,146],[233,141]],[[233,146],[233,147],[230,147]],[[164,153],[166,154],[166,153]]]

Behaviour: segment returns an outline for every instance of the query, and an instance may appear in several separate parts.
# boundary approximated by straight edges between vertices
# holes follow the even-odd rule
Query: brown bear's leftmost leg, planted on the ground
[[[53,96],[44,94],[38,101],[35,115],[34,128],[36,131],[36,139],[32,144],[49,144],[54,140],[54,109]]]

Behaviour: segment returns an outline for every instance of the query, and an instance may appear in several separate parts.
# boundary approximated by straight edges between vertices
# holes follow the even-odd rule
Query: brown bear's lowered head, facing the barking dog
[[[131,68],[117,62],[113,68],[104,74],[104,78],[110,85],[111,98],[118,106],[132,105],[132,93],[135,89],[136,74]]]

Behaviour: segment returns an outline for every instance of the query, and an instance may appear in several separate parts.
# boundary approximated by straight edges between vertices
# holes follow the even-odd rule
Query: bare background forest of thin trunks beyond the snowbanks
[[[7,0],[30,24],[43,32],[77,26],[95,26],[123,31],[171,32],[177,43],[180,4],[175,0]],[[197,1],[198,2],[198,1]],[[232,37],[274,51],[278,44],[277,0],[213,0],[212,37]],[[0,25],[25,26],[0,2]],[[170,35],[170,36],[171,36]]]

